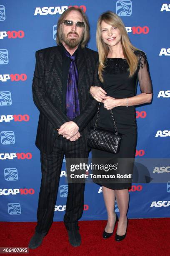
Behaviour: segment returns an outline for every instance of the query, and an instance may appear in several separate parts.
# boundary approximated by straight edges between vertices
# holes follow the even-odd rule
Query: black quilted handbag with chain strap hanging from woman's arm
[[[122,139],[122,134],[118,133],[118,131],[117,131],[117,127],[115,124],[115,119],[114,119],[112,110],[110,110],[110,113],[111,113],[111,116],[113,119],[115,132],[97,128],[97,122],[98,122],[98,118],[99,118],[99,110],[100,110],[100,105],[101,105],[100,103],[101,102],[99,102],[99,106],[98,106],[98,110],[97,110],[95,126],[91,127],[90,131],[88,133],[87,145],[90,148],[96,148],[99,150],[108,151],[113,154],[117,154],[120,149],[120,142]]]

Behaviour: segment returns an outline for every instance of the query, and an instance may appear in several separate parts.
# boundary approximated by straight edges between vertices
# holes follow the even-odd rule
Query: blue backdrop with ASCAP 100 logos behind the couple
[[[39,112],[32,100],[35,51],[55,46],[56,23],[69,6],[80,6],[90,21],[88,47],[96,49],[99,15],[121,16],[133,45],[145,51],[153,82],[153,102],[136,108],[136,160],[153,159],[150,173],[170,173],[170,3],[164,0],[1,0],[0,3],[0,220],[36,221],[40,152],[35,146]],[[138,92],[140,93],[139,86]],[[169,164],[168,164],[169,163]],[[168,182],[169,181],[169,182]],[[65,161],[54,220],[62,220],[67,197]],[[115,211],[119,212],[117,205]],[[170,178],[162,184],[133,183],[128,218],[170,216]],[[102,190],[86,184],[82,220],[106,219]]]

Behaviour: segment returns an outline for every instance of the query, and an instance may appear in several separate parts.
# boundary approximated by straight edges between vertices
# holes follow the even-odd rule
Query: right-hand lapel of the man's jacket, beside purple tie
[[[78,85],[77,85],[77,90],[78,90],[78,95],[80,96],[82,87],[83,87],[83,80],[85,77],[85,52],[84,49],[79,48],[78,49],[78,54],[77,54],[77,69],[78,69]]]

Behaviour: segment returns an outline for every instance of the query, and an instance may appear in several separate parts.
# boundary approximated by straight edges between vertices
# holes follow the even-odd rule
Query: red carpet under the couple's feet
[[[0,247],[27,247],[35,225],[32,222],[0,222]],[[29,255],[170,255],[170,218],[129,220],[127,236],[121,242],[114,239],[117,224],[111,238],[102,238],[105,225],[106,220],[80,221],[82,244],[74,248],[68,242],[64,224],[54,222],[42,245],[37,249],[30,249]]]

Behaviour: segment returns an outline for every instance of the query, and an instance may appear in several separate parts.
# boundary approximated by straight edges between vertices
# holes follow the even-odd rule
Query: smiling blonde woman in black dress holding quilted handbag
[[[90,94],[103,103],[97,126],[114,131],[110,114],[112,109],[118,132],[122,133],[122,141],[118,154],[92,149],[92,159],[112,159],[113,163],[116,163],[117,158],[134,159],[137,142],[135,105],[151,102],[153,95],[148,61],[145,53],[130,43],[122,20],[111,11],[100,15],[96,38],[99,62]],[[135,95],[138,80],[141,93]],[[124,165],[122,169],[126,167]],[[133,165],[129,165],[128,173],[133,173]],[[102,184],[108,217],[103,238],[109,238],[113,234],[117,220],[115,198],[120,211],[115,240],[125,238],[130,186],[131,183]]]

